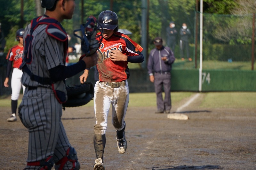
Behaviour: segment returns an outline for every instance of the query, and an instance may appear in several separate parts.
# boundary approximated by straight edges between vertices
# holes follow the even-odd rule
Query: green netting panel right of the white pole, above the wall
[[[198,24],[196,56],[199,60],[200,15],[198,13],[195,16],[197,17],[195,21],[198,21],[195,22]],[[251,70],[252,23],[252,14],[216,15],[204,13],[203,69]],[[255,49],[253,50],[255,52]]]

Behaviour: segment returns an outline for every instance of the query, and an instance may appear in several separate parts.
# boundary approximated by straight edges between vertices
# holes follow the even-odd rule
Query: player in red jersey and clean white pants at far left
[[[7,68],[6,68],[6,78],[4,80],[4,86],[9,87],[9,76],[12,69],[13,63],[13,70],[12,70],[12,80],[11,80],[11,87],[12,87],[12,96],[11,96],[11,110],[12,115],[10,118],[7,119],[8,122],[15,122],[17,121],[16,118],[16,111],[18,106],[18,99],[20,96],[20,89],[22,86],[23,93],[25,91],[25,86],[21,85],[20,79],[22,76],[22,71],[19,69],[20,64],[22,63],[22,53],[23,53],[23,33],[24,29],[18,29],[16,32],[16,40],[19,41],[18,45],[13,46],[7,56],[6,59],[8,60]]]

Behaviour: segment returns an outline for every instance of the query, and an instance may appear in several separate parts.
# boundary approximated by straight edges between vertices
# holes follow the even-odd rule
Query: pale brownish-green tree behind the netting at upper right
[[[212,16],[212,36],[220,41],[234,44],[250,44],[252,42],[252,14],[256,12],[255,0],[236,0],[232,2],[227,16]]]

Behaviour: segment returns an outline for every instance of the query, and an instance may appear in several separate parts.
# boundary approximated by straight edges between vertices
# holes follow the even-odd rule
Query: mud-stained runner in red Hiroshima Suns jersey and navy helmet
[[[127,148],[125,139],[125,122],[129,102],[128,62],[141,63],[144,56],[143,48],[132,41],[127,35],[118,32],[118,18],[113,11],[102,11],[98,18],[99,29],[103,31],[103,40],[98,49],[98,63],[95,67],[94,125],[93,144],[96,153],[94,170],[104,170],[103,153],[106,144],[107,117],[112,106],[112,124],[116,129],[118,152],[123,154]],[[100,33],[98,33],[100,35]],[[98,37],[100,39],[100,37]],[[89,70],[84,70],[80,76],[83,83]]]

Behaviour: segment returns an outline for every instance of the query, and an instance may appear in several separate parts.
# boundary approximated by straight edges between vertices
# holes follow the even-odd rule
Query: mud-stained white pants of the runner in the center
[[[112,88],[106,82],[97,81],[94,86],[94,112],[96,123],[94,134],[105,135],[110,105],[112,106],[112,124],[116,130],[124,128],[124,117],[129,103],[129,87]]]

